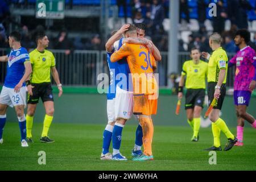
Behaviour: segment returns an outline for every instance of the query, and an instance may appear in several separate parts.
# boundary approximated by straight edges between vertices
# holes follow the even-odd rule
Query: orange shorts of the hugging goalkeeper
[[[152,115],[156,114],[158,109],[158,100],[152,99],[152,95],[134,95],[133,113]]]

